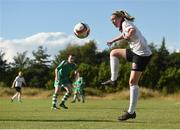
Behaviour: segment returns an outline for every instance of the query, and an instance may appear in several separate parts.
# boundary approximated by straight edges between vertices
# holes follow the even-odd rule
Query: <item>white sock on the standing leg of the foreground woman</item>
[[[129,114],[133,114],[135,112],[136,104],[138,100],[138,93],[139,93],[138,85],[130,86],[130,103],[129,103],[129,109],[128,109]]]

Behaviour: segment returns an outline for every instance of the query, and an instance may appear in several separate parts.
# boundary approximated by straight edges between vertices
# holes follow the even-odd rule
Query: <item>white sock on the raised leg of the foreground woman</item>
[[[111,66],[111,80],[117,80],[119,73],[119,59],[115,56],[110,56],[110,66]]]

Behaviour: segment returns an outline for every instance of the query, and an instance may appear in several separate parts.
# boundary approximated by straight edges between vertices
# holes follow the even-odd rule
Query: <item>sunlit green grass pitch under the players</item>
[[[89,99],[84,104],[67,103],[68,110],[51,111],[51,99],[24,99],[23,103],[0,99],[0,128],[180,128],[180,101],[139,100],[136,119],[117,121],[128,103],[128,100]]]

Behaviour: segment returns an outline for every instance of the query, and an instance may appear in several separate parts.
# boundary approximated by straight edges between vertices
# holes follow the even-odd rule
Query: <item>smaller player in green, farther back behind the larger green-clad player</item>
[[[83,77],[80,76],[80,72],[76,72],[76,81],[73,83],[74,86],[74,98],[71,103],[75,103],[76,100],[85,102],[84,96],[84,80]],[[81,99],[80,99],[81,98]]]

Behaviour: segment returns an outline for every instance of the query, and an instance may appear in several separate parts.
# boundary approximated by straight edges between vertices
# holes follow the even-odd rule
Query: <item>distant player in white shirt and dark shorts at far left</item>
[[[13,81],[13,84],[12,84],[12,87],[11,88],[14,88],[16,89],[16,93],[14,94],[14,96],[11,98],[11,102],[13,102],[13,100],[18,97],[18,101],[19,102],[22,102],[21,100],[21,87],[22,87],[22,84],[24,84],[26,86],[26,82],[24,80],[24,77],[22,76],[22,72],[20,71],[18,73],[18,76],[15,78],[15,80]]]

